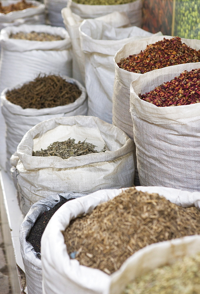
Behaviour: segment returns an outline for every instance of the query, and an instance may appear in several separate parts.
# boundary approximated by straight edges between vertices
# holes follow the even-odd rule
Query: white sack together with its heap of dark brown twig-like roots
[[[85,88],[67,76],[41,74],[32,81],[6,88],[1,93],[1,104],[6,123],[7,170],[24,134],[37,123],[87,114]]]

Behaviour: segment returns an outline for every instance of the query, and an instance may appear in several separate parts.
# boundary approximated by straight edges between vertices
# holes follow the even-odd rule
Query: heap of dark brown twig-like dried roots
[[[6,98],[11,103],[22,108],[51,108],[73,103],[82,91],[64,78],[55,75],[40,74],[20,88],[6,92]]]

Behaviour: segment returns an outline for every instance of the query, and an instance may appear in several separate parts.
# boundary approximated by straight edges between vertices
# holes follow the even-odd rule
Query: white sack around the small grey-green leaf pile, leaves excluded
[[[101,151],[62,159],[32,156],[55,141],[74,138]],[[17,148],[16,166],[21,209],[27,213],[41,198],[61,192],[91,193],[105,188],[133,186],[133,141],[119,128],[93,116],[52,118],[30,129]]]

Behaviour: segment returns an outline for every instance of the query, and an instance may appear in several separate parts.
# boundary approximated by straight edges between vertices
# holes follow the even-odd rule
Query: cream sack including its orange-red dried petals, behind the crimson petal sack
[[[166,66],[199,62],[199,50],[199,40],[180,39],[172,36],[151,36],[125,44],[114,56],[113,124],[133,139],[130,83],[138,76],[142,76],[145,71],[150,71],[151,75],[153,70]],[[137,169],[135,185],[139,185]]]

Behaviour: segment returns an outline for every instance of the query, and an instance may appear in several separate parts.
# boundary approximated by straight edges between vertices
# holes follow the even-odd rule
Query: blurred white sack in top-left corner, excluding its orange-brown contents
[[[19,2],[19,1],[18,1]],[[3,0],[2,6],[9,6],[16,3],[16,0]],[[23,10],[0,13],[0,30],[6,26],[19,26],[21,24],[45,24],[45,5],[39,1],[31,0],[35,7]]]

